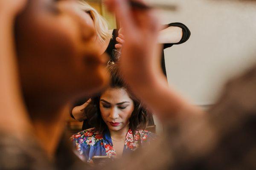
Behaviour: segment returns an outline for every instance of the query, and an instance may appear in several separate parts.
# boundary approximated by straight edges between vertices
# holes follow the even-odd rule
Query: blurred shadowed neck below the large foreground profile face
[[[44,113],[49,115],[48,111],[41,111],[40,114]],[[33,120],[38,143],[45,150],[50,160],[54,159],[55,151],[57,150],[58,143],[60,142],[59,140],[63,135],[67,118],[66,112],[62,109],[51,111],[51,113],[52,117]]]

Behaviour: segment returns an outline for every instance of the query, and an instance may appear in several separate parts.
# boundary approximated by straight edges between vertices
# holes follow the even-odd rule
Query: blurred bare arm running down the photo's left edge
[[[17,74],[13,26],[15,16],[24,6],[25,0],[0,1],[0,130],[16,134],[23,139],[30,122],[21,96]],[[9,10],[6,11],[6,8]]]

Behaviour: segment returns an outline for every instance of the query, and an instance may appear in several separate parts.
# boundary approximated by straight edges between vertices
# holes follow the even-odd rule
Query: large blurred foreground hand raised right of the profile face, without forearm
[[[160,70],[160,48],[157,45],[160,26],[154,11],[132,9],[128,0],[106,0],[105,3],[116,14],[122,25],[123,34],[120,34],[125,37],[121,71],[129,82],[143,81],[149,72]],[[117,40],[124,42],[121,36]]]

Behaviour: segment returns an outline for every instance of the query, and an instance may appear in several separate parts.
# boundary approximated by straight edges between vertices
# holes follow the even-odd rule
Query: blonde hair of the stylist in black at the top
[[[112,34],[108,31],[108,23],[92,6],[90,6],[85,0],[77,0],[79,8],[85,12],[89,12],[93,18],[96,34],[101,42],[104,42],[108,38],[112,38]]]

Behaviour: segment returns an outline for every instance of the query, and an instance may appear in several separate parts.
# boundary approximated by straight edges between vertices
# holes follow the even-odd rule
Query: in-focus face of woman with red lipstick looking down
[[[108,88],[100,97],[102,119],[109,130],[118,131],[127,127],[134,102],[123,88]]]

